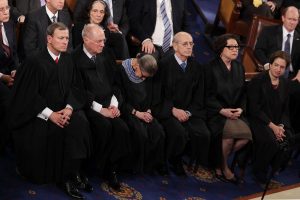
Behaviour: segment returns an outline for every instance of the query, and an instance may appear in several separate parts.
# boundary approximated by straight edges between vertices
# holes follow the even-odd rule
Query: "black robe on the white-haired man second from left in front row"
[[[130,152],[130,135],[126,123],[119,117],[106,118],[91,109],[93,101],[108,108],[113,95],[118,99],[119,105],[121,104],[120,90],[115,82],[115,59],[110,51],[105,50],[97,54],[94,63],[84,53],[83,45],[79,45],[72,56],[87,92],[85,111],[93,132],[96,165],[101,173],[106,159],[113,164]]]

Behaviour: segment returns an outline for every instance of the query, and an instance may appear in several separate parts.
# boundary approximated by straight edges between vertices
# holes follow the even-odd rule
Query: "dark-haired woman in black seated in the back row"
[[[82,13],[81,20],[75,23],[72,29],[73,46],[76,47],[82,43],[81,32],[85,24],[97,24],[105,30],[105,48],[111,49],[116,59],[123,60],[129,58],[129,50],[125,36],[122,33],[111,32],[107,28],[106,22],[109,16],[109,8],[105,1],[91,0]]]

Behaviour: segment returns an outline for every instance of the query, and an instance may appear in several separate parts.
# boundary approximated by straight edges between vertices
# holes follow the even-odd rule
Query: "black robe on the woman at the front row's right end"
[[[292,135],[288,81],[280,77],[279,85],[274,89],[268,71],[263,72],[251,80],[247,96],[249,122],[255,146],[253,169],[265,173],[271,161],[273,167],[280,165],[282,156],[279,143],[268,124],[283,124],[287,140]]]

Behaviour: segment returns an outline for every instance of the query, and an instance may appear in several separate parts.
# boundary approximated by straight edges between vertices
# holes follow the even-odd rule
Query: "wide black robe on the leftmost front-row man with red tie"
[[[58,64],[47,49],[29,57],[18,70],[13,87],[10,125],[20,173],[37,183],[59,182],[64,159],[89,155],[89,124],[79,109],[84,93],[76,79],[71,56],[61,53]],[[60,128],[37,117],[73,107],[70,124]]]

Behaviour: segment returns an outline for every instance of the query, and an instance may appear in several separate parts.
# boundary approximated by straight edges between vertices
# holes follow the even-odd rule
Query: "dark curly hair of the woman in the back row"
[[[85,9],[83,10],[83,12],[81,13],[81,20],[80,21],[83,21],[85,23],[90,22],[90,12],[93,8],[93,5],[97,2],[103,4],[104,7],[105,7],[104,8],[105,14],[104,14],[103,20],[100,23],[100,25],[102,25],[102,26],[106,25],[107,19],[110,17],[110,12],[109,12],[109,8],[108,8],[106,2],[102,1],[102,0],[90,0],[89,3],[86,5]]]

